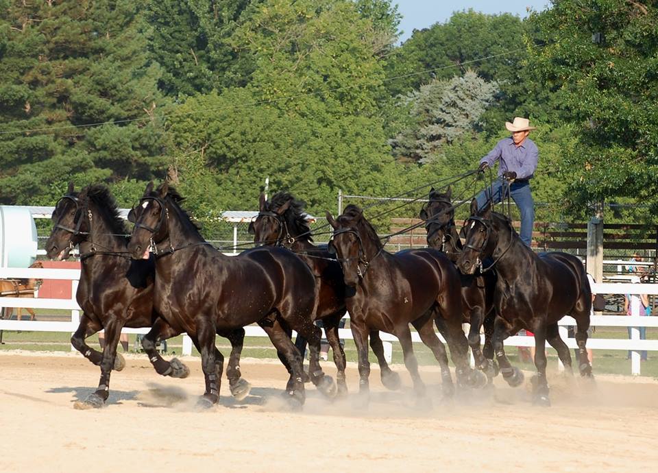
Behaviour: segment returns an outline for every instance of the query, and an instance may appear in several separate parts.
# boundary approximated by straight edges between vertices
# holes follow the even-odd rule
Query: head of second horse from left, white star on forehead
[[[138,206],[130,209],[128,221],[134,223],[134,227],[128,252],[133,259],[148,259],[151,248],[167,238],[169,210],[165,199],[168,194],[167,182],[160,184],[156,190],[153,189],[153,182],[149,182]]]

